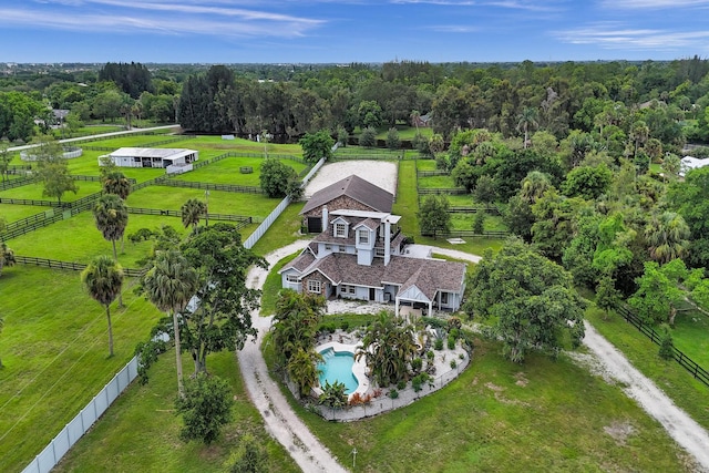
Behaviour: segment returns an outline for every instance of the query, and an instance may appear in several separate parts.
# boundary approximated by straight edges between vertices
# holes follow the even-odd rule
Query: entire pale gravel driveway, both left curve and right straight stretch
[[[281,258],[305,248],[308,243],[308,240],[295,241],[269,253],[266,255],[266,260],[273,266]],[[471,263],[477,263],[481,259],[480,256],[459,250],[439,247],[432,247],[432,249],[436,254]],[[248,274],[248,285],[260,288],[266,281],[267,275],[267,270],[251,268]],[[259,336],[263,337],[270,328],[271,317],[259,317],[258,312],[255,312],[251,318]],[[635,369],[625,356],[600,336],[593,326],[587,322],[585,326],[584,343],[594,353],[602,367],[603,374],[627,385],[624,388],[624,392],[660,422],[669,435],[692,455],[697,467],[701,469],[700,471],[709,472],[709,433],[685,411],[677,408],[653,381]],[[266,428],[288,450],[298,466],[308,473],[347,471],[292,411],[276,382],[270,379],[259,345],[257,342],[247,343],[244,350],[238,352],[238,359],[246,389],[254,405],[264,418]]]

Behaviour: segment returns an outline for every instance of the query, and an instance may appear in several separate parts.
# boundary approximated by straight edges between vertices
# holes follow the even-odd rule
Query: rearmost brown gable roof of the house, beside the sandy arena
[[[374,212],[387,214],[391,213],[394,202],[394,196],[391,193],[352,174],[312,194],[300,213],[305,214],[342,195],[371,207]]]

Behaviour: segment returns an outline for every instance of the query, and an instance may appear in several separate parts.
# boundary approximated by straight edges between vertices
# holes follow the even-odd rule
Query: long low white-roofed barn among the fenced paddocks
[[[167,147],[122,147],[100,156],[99,165],[106,156],[121,167],[161,167],[168,173],[179,173],[192,169],[191,164],[199,158],[199,152]]]

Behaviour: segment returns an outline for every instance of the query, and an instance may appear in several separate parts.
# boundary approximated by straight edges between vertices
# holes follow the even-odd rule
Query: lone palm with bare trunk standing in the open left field
[[[91,297],[106,308],[109,321],[109,356],[113,357],[113,328],[111,326],[111,302],[121,294],[123,286],[123,269],[111,257],[96,257],[86,269],[81,273],[81,281]]]

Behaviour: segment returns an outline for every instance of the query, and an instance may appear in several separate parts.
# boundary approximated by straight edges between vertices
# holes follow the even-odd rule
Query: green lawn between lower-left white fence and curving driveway
[[[177,439],[182,421],[173,411],[175,356],[168,351],[151,368],[150,382],[133,383],[53,471],[224,472],[224,463],[242,436],[251,434],[268,452],[267,471],[299,472],[288,452],[266,433],[244,389],[234,353],[213,354],[207,367],[229,381],[236,401],[232,423],[212,445]],[[186,362],[185,373],[191,369]]]

